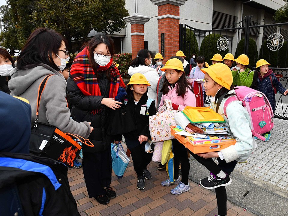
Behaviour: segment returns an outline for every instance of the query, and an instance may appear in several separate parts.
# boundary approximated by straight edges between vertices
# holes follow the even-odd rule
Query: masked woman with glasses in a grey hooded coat
[[[63,36],[58,32],[36,29],[23,46],[17,65],[11,71],[9,89],[12,96],[29,101],[32,109],[31,125],[34,125],[39,85],[47,75],[52,74],[41,96],[38,122],[55,125],[64,133],[88,138],[93,128],[88,122],[73,121],[67,107],[67,83],[59,72],[69,61],[66,47]]]

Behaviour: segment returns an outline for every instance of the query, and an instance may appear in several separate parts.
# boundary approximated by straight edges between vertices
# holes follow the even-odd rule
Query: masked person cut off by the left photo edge
[[[8,81],[10,79],[10,73],[13,69],[14,61],[5,49],[0,48],[0,91],[4,91],[10,94],[8,88]]]

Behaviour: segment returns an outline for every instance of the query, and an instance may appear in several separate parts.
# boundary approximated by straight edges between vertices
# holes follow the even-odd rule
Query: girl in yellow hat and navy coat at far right
[[[287,96],[288,90],[278,81],[273,70],[268,67],[269,65],[265,59],[257,61],[251,88],[266,95],[274,112],[276,109],[275,93],[279,91],[280,94]],[[265,137],[265,142],[267,142],[271,137],[271,132],[269,131],[262,136]]]

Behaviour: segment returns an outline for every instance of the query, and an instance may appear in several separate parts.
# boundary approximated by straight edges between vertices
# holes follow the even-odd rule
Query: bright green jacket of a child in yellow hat
[[[250,70],[250,68],[246,68],[245,72],[240,72],[240,70],[232,70],[233,75],[233,85],[244,85],[250,87],[253,81],[254,71]]]

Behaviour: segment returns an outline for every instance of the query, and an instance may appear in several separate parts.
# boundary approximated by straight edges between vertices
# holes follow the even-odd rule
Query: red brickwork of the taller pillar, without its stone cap
[[[179,16],[179,6],[173,4],[158,6],[158,16],[167,14]],[[176,55],[179,50],[179,19],[158,19],[158,29],[159,52],[161,52],[161,33],[165,33],[164,61],[166,62],[171,56]]]

